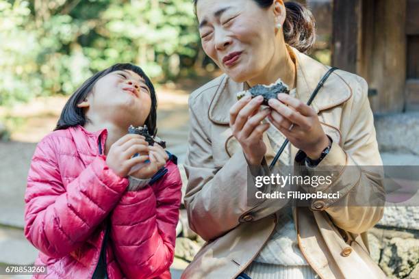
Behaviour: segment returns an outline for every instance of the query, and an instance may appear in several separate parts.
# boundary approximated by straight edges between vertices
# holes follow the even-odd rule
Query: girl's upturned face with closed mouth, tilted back
[[[144,79],[131,70],[116,70],[101,77],[86,101],[86,116],[102,121],[143,125],[151,110],[151,92]],[[93,117],[94,118],[94,117]]]

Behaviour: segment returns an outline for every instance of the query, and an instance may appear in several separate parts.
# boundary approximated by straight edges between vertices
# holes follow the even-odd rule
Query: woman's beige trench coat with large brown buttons
[[[296,58],[296,94],[307,102],[327,66],[292,49]],[[275,200],[247,204],[247,165],[229,128],[229,109],[244,83],[222,75],[190,96],[191,131],[185,169],[185,205],[190,227],[207,243],[182,278],[236,278],[253,261],[270,237],[279,210]],[[342,166],[329,191],[340,191],[340,202],[382,191],[379,173],[363,165],[382,165],[364,79],[335,71],[312,107],[325,133],[333,139],[320,165]],[[268,147],[266,161],[275,151]],[[298,151],[291,149],[292,158]],[[300,163],[294,162],[295,166]],[[359,167],[347,170],[347,165]],[[299,168],[295,168],[299,172]],[[384,278],[369,256],[366,230],[383,215],[383,207],[329,207],[334,200],[312,200],[311,207],[293,210],[297,240],[303,256],[320,278]]]

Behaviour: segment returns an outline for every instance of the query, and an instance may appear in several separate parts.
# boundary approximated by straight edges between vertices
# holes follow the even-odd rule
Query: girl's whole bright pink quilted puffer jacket
[[[27,179],[25,236],[40,250],[35,278],[92,278],[108,227],[108,278],[170,278],[181,178],[175,159],[140,191],[107,167],[107,131],[54,131],[38,144]],[[172,158],[175,158],[171,156]]]

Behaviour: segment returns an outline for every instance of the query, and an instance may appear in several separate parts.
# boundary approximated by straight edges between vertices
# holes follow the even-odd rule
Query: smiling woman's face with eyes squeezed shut
[[[275,4],[198,0],[196,15],[203,50],[234,81],[255,79],[269,67],[278,44]]]

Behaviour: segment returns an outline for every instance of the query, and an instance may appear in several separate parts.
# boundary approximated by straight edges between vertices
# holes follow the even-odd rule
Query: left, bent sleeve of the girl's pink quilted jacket
[[[48,256],[66,256],[88,239],[127,185],[100,156],[64,187],[53,137],[45,137],[36,147],[27,178],[25,237]]]

